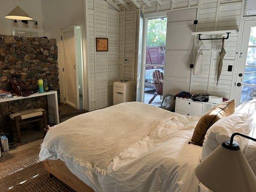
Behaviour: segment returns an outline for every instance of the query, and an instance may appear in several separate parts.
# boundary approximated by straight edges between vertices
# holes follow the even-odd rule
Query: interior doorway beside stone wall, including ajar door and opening
[[[81,25],[61,29],[63,46],[64,103],[84,108],[83,49]]]

